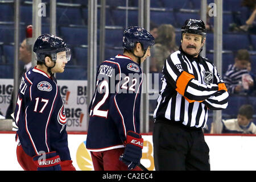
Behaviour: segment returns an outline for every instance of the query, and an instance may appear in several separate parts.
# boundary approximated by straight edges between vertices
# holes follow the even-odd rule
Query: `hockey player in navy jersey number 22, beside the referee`
[[[140,170],[140,65],[150,56],[153,45],[154,37],[144,28],[129,27],[123,33],[123,55],[105,60],[97,69],[86,139],[96,171]]]

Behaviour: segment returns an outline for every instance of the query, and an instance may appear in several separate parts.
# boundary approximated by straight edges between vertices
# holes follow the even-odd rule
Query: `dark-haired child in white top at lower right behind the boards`
[[[253,123],[253,114],[253,106],[242,105],[238,110],[237,118],[222,120],[222,133],[256,134],[256,126]],[[214,123],[212,123],[212,128],[213,125]]]

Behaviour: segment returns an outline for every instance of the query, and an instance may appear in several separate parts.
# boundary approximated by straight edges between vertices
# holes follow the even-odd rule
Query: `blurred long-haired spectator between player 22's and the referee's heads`
[[[151,70],[162,72],[166,57],[178,48],[175,42],[175,28],[171,24],[162,24],[158,28],[158,37],[152,47]]]

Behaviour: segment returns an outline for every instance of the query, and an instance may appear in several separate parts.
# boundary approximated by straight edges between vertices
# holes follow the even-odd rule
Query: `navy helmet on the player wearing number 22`
[[[153,46],[155,38],[142,27],[129,27],[123,32],[123,48],[132,50],[136,43],[141,43],[144,51],[148,46]]]

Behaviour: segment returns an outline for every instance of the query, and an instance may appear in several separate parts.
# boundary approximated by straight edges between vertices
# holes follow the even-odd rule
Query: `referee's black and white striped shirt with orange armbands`
[[[228,92],[208,59],[191,57],[181,48],[167,57],[154,118],[204,128],[208,109],[228,106]]]

